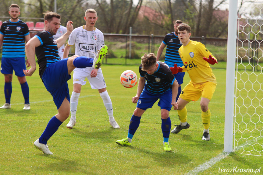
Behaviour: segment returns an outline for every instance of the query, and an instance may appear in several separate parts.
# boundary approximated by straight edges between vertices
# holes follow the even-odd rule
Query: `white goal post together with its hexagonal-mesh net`
[[[224,152],[263,156],[262,68],[263,0],[230,0]]]

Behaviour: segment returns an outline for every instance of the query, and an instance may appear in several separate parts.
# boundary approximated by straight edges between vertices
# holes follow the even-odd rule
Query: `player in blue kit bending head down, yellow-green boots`
[[[178,107],[177,103],[175,103],[178,83],[169,66],[156,60],[157,58],[153,53],[144,54],[142,57],[142,64],[139,67],[138,90],[136,96],[132,98],[133,103],[138,101],[137,107],[130,120],[127,138],[116,141],[119,145],[131,145],[133,135],[140,125],[142,114],[159,99],[158,106],[161,107],[163,148],[164,151],[172,151],[168,142],[171,130],[169,111],[172,106],[175,109]],[[146,83],[145,80],[147,80]]]

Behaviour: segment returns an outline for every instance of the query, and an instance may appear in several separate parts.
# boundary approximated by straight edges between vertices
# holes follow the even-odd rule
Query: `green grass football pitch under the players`
[[[226,65],[226,63],[220,63]],[[216,65],[216,66],[219,66]],[[209,104],[211,110],[211,141],[202,141],[200,100],[187,105],[190,128],[179,134],[171,134],[169,144],[172,152],[162,148],[160,108],[157,103],[141,118],[140,126],[130,147],[115,142],[126,138],[129,122],[136,104],[132,97],[137,86],[124,88],[119,76],[125,70],[138,74],[138,66],[103,65],[107,90],[113,104],[113,112],[120,129],[113,129],[97,90],[89,84],[83,86],[77,108],[77,123],[73,129],[66,128],[69,119],[48,141],[53,156],[44,155],[33,146],[51,117],[57,114],[52,96],[47,92],[38,71],[27,77],[30,87],[31,110],[24,111],[23,95],[16,76],[12,82],[12,108],[0,110],[0,174],[255,174],[219,173],[219,168],[256,168],[263,163],[261,156],[240,154],[242,150],[223,153],[226,69],[213,69],[217,87]],[[73,75],[73,74],[72,74]],[[186,73],[184,87],[190,81]],[[72,93],[72,79],[68,81]],[[0,105],[5,103],[4,76],[0,76]],[[172,128],[179,124],[177,112],[171,110]],[[220,157],[226,158],[217,161]]]

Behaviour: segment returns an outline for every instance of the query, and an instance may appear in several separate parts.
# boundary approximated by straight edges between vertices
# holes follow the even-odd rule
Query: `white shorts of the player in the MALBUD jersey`
[[[103,89],[106,86],[101,68],[98,69],[98,74],[96,77],[91,78],[92,67],[87,68],[75,68],[73,72],[73,84],[81,84],[82,86],[86,84],[85,78],[87,77],[91,89]]]

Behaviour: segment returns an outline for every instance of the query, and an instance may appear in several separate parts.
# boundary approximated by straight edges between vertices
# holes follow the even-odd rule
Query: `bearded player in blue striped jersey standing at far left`
[[[18,19],[20,15],[19,5],[10,5],[9,15],[11,19],[5,21],[0,29],[0,48],[3,46],[1,73],[5,76],[5,104],[0,108],[11,108],[10,102],[14,70],[25,99],[23,109],[29,110],[29,87],[23,73],[23,69],[26,69],[25,41],[28,42],[30,40],[29,30],[27,24]],[[27,60],[27,67],[29,66],[30,64]]]

